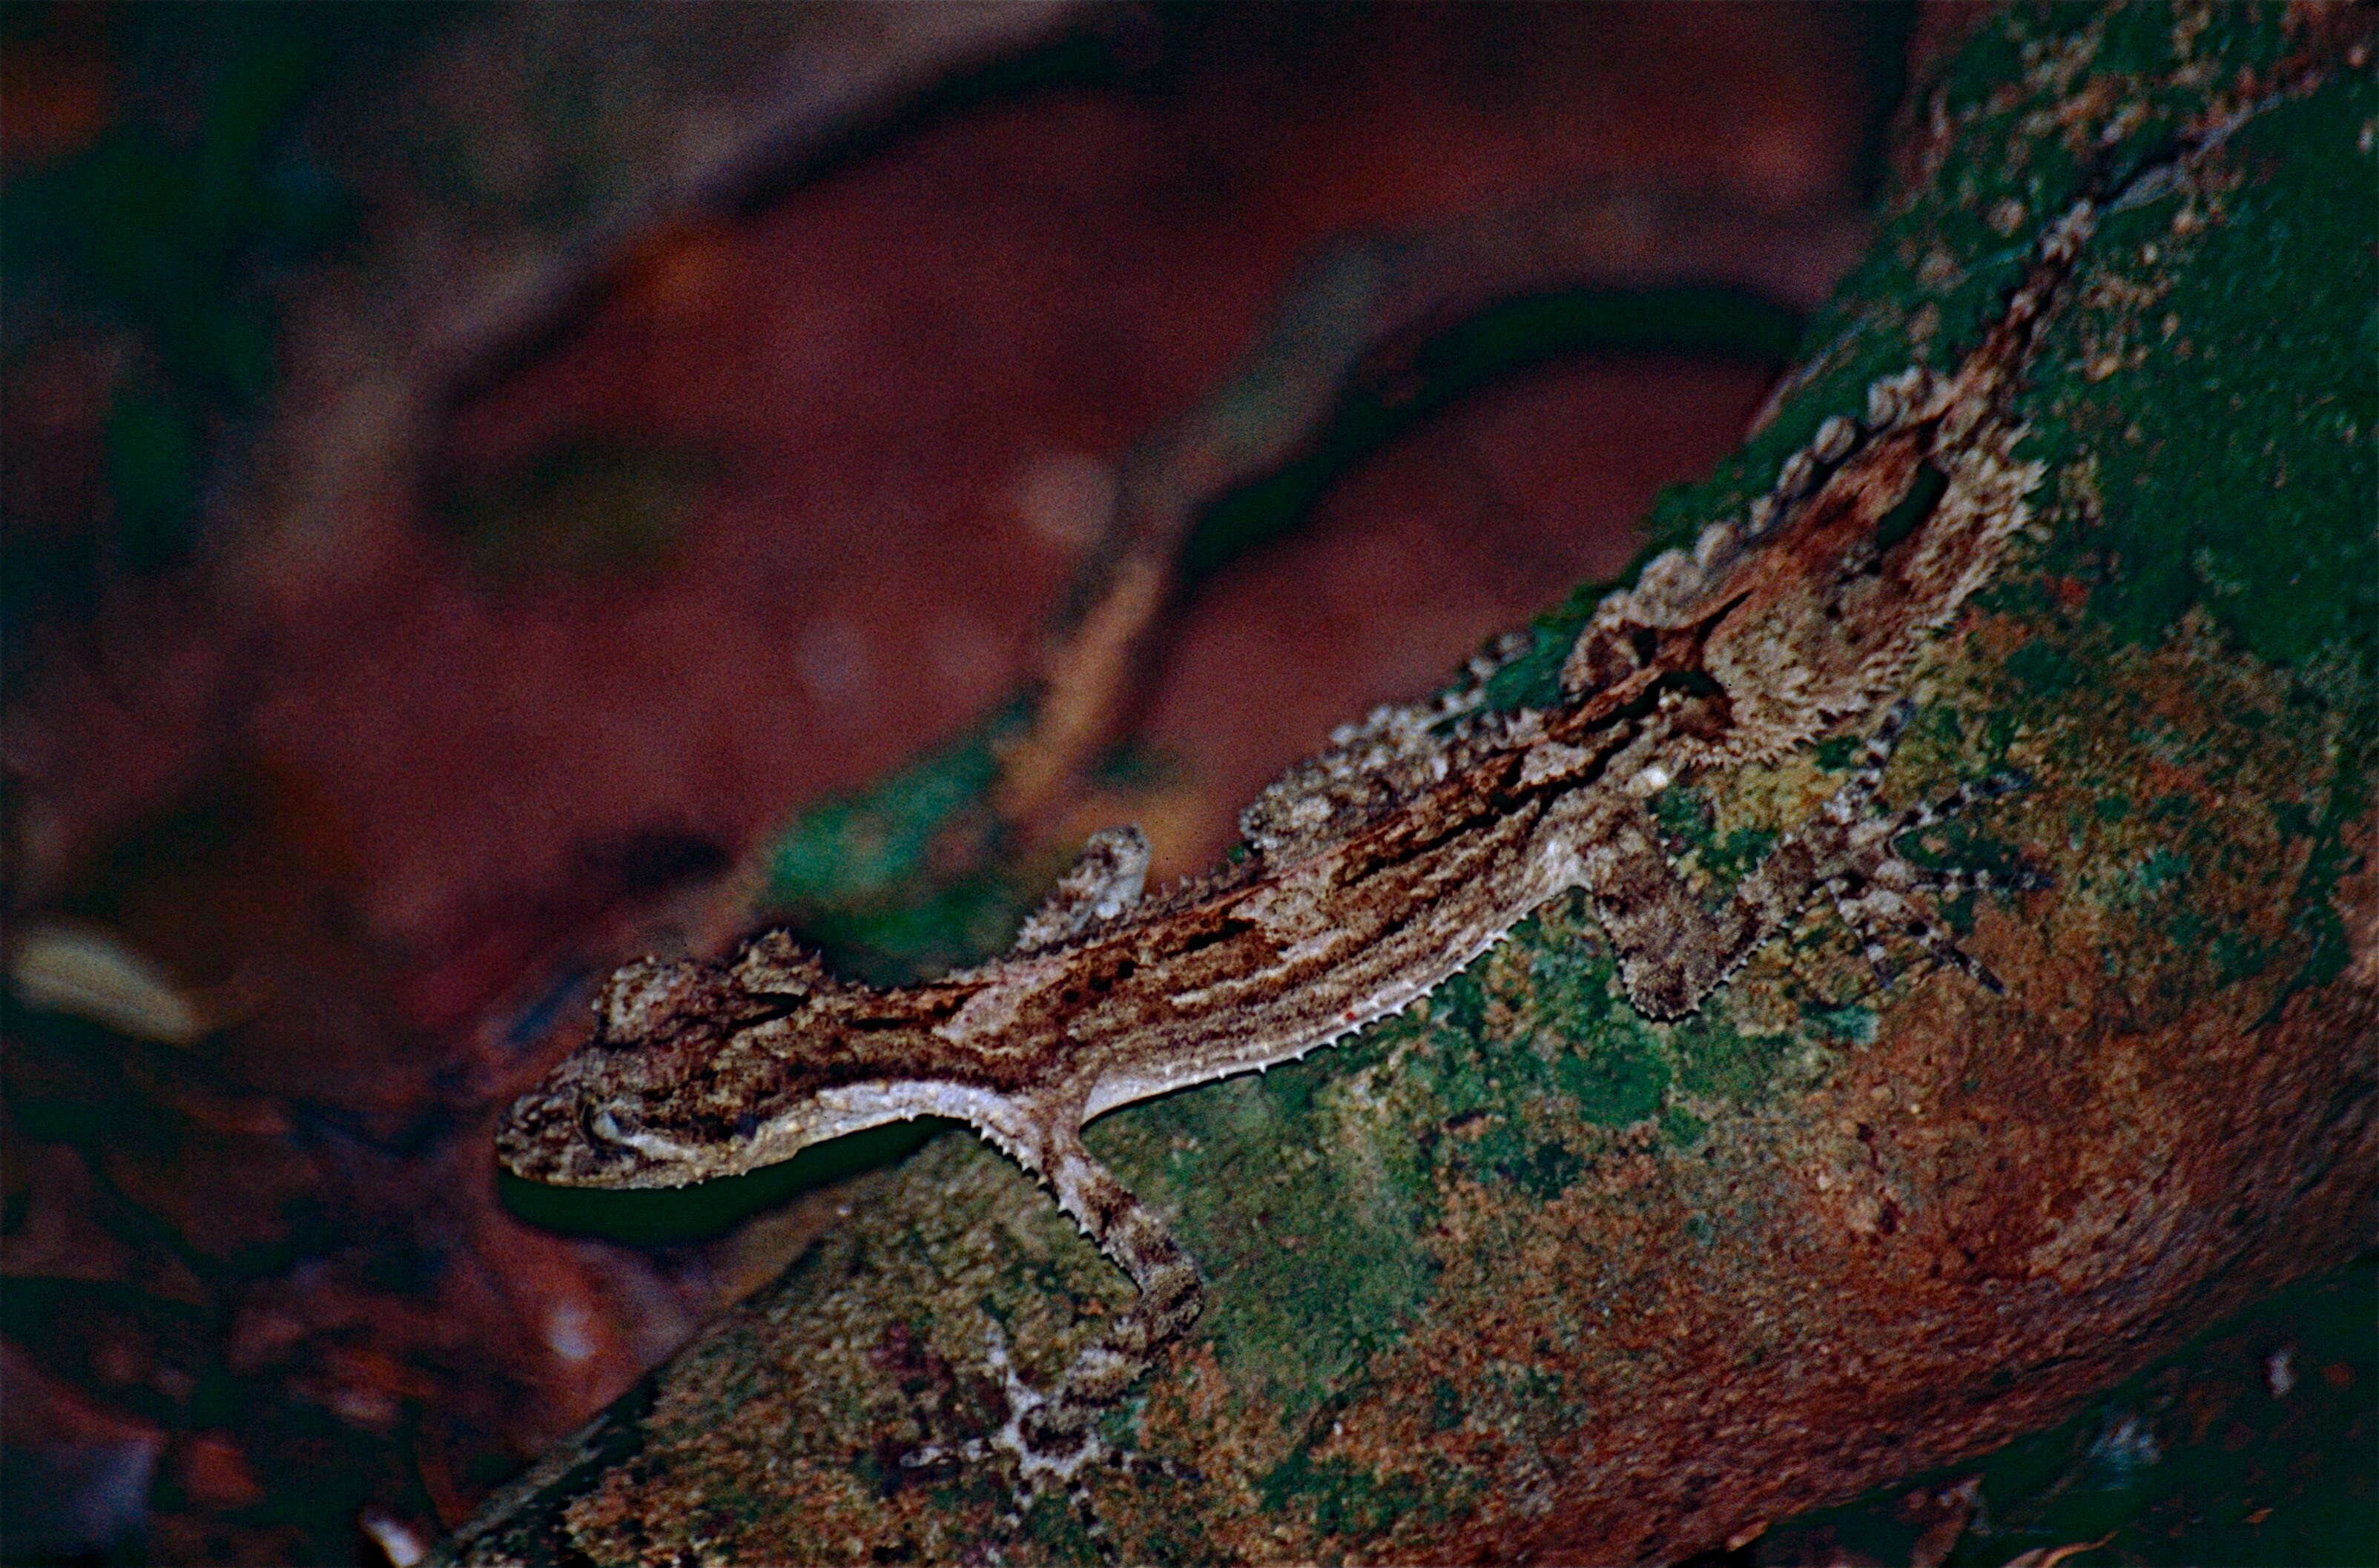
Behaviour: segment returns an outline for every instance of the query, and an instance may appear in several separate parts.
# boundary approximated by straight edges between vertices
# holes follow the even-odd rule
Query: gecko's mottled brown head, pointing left
[[[730,964],[626,964],[592,1037],[504,1111],[497,1159],[564,1187],[683,1187],[847,1133],[833,1014],[854,995],[783,933]]]

